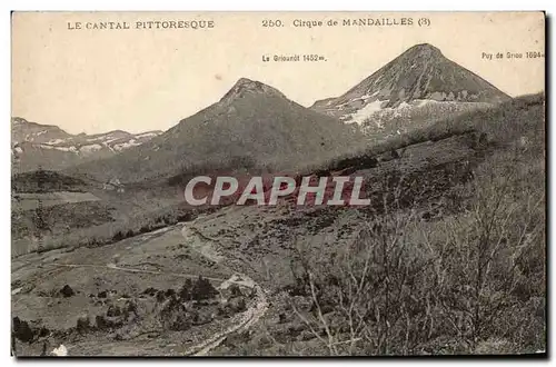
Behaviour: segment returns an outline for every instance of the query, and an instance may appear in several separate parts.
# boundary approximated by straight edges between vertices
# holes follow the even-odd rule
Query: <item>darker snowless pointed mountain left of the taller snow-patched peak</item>
[[[260,81],[239,79],[216,103],[116,157],[77,167],[121,181],[168,178],[192,167],[288,169],[360,142],[360,133]]]

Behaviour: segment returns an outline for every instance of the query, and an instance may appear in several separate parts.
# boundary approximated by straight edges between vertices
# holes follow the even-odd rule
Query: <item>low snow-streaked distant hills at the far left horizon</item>
[[[63,169],[85,161],[106,158],[139,146],[161,131],[130,133],[122,130],[97,135],[71,135],[52,125],[11,119],[12,161],[19,172]]]

